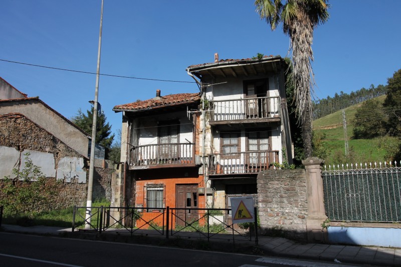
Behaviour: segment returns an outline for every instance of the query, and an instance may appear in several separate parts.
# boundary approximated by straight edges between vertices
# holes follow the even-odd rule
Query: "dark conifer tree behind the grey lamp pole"
[[[100,144],[105,148],[105,158],[108,159],[111,144],[113,143],[114,134],[111,134],[111,125],[106,122],[107,118],[104,113],[98,116],[96,121],[96,144]],[[81,109],[71,118],[71,121],[79,128],[84,130],[88,135],[92,133],[93,123],[93,107],[87,110],[86,114]]]

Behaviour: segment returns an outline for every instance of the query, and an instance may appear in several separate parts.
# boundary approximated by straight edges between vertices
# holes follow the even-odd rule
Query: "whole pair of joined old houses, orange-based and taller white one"
[[[152,99],[113,108],[123,113],[124,206],[230,208],[231,196],[257,196],[259,172],[292,162],[288,65],[280,56],[217,57],[186,69],[200,94],[157,90]],[[175,223],[198,217],[191,210]]]

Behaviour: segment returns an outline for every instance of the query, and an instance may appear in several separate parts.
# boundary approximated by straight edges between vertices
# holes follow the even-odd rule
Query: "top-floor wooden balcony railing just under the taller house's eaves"
[[[210,121],[280,118],[280,97],[211,101]]]

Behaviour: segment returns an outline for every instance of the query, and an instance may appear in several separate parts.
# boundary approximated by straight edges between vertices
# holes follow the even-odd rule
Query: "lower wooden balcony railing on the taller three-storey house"
[[[279,151],[249,151],[209,155],[209,175],[258,173],[279,162]]]

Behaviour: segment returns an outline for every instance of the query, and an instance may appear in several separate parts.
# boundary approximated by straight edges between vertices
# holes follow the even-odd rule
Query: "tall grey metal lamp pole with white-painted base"
[[[97,53],[97,70],[96,70],[96,89],[95,103],[93,105],[93,122],[92,122],[92,140],[91,140],[91,157],[89,165],[89,180],[88,180],[88,196],[86,199],[86,223],[85,229],[90,228],[92,215],[92,187],[93,187],[93,171],[95,168],[95,145],[96,145],[96,120],[97,120],[97,100],[99,91],[99,72],[100,72],[100,48],[102,46],[102,23],[103,23],[103,0],[102,9],[100,12],[100,31],[99,31],[99,47]]]

